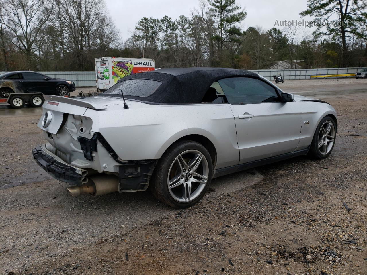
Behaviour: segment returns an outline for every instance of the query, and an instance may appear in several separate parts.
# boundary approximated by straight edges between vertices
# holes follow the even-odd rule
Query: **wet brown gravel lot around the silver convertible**
[[[366,275],[367,80],[316,81],[279,87],[335,107],[329,158],[219,177],[183,210],[71,197],[33,161],[41,110],[0,105],[0,274]]]

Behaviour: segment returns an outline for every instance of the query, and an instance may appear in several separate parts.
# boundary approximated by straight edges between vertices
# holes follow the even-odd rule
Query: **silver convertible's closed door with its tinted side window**
[[[302,113],[296,102],[281,102],[276,88],[259,78],[232,77],[218,83],[235,117],[239,164],[297,148]]]

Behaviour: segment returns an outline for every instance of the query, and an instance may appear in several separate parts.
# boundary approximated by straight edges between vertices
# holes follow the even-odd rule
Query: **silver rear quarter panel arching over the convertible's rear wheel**
[[[84,114],[93,120],[92,132],[101,133],[120,159],[159,159],[172,143],[195,134],[207,137],[214,144],[217,168],[238,164],[238,159],[233,158],[238,155],[238,145],[228,104],[127,102],[129,109],[116,105],[108,111],[87,109]]]

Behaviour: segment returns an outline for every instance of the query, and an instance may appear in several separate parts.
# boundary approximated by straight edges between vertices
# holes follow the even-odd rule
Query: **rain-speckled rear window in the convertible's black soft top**
[[[121,95],[122,90],[124,96],[139,96],[145,98],[152,95],[161,84],[160,81],[156,80],[129,79],[118,82],[103,92],[102,95]]]

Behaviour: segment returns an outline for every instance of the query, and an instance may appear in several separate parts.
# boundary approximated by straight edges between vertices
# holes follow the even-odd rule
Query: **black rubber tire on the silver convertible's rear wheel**
[[[208,150],[200,143],[182,140],[172,144],[159,159],[149,188],[159,201],[173,208],[187,208],[204,196],[212,174],[213,165]],[[171,188],[168,188],[169,181]]]

